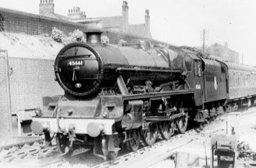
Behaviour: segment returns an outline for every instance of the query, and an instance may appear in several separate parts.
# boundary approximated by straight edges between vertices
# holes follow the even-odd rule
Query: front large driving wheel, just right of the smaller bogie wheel
[[[143,142],[146,143],[146,146],[153,146],[158,135],[157,125],[153,123],[149,124],[147,129],[142,129],[141,135]]]

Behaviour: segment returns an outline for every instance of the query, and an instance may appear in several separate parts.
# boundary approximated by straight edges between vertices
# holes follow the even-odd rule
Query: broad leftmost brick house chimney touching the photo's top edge
[[[39,15],[51,17],[54,14],[54,0],[40,0]]]

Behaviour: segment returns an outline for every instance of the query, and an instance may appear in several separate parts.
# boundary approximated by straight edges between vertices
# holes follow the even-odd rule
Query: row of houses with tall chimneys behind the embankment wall
[[[62,19],[69,22],[82,23],[86,26],[97,26],[110,31],[128,33],[134,36],[152,38],[150,33],[149,9],[145,12],[145,23],[130,25],[128,23],[128,2],[123,1],[121,6],[122,14],[111,17],[87,18],[86,12],[80,11],[79,7],[68,10],[68,15],[59,15],[54,12],[53,0],[40,0],[39,15],[44,15],[54,19]]]

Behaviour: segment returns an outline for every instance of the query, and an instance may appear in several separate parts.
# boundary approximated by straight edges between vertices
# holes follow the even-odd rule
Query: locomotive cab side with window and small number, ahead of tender
[[[195,81],[195,105],[202,105],[204,101],[204,77],[202,71],[202,60],[194,61],[194,81]]]

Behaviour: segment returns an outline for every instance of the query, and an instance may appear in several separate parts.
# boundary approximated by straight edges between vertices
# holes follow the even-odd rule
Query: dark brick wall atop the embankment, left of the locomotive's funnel
[[[86,30],[82,24],[0,8],[0,31],[39,35],[51,34],[53,27],[61,29],[65,34],[71,33],[75,29]]]

